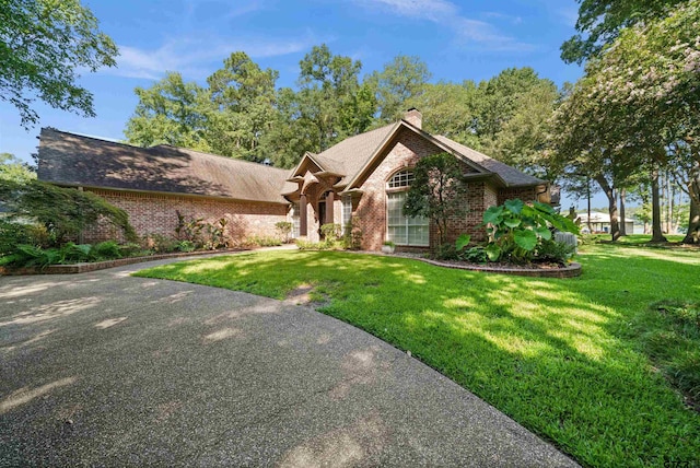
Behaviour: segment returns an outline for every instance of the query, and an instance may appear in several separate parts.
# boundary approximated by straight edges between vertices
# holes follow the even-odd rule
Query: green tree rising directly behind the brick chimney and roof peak
[[[404,116],[407,103],[420,97],[431,78],[428,66],[420,57],[396,56],[381,72],[368,78],[375,90],[378,107],[377,122],[388,124]]]

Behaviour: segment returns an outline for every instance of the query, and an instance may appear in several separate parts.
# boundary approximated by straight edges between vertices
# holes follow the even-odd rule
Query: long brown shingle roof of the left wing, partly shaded
[[[62,185],[287,203],[289,171],[170,145],[138,148],[42,129],[38,178]]]

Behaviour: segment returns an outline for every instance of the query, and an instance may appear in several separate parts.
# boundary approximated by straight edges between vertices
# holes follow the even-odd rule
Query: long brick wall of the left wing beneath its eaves
[[[129,213],[129,222],[140,236],[162,234],[175,236],[177,213],[186,217],[203,218],[217,222],[229,220],[226,230],[235,241],[249,235],[276,235],[275,223],[287,221],[289,207],[284,204],[228,201],[211,198],[180,197],[161,194],[138,194],[116,190],[91,190],[112,204]],[[93,243],[118,238],[114,227],[100,223],[83,233],[84,242]]]

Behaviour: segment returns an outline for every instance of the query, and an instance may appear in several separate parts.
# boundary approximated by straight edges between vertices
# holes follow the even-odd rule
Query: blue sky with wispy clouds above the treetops
[[[39,128],[122,139],[137,105],[135,86],[165,71],[198,82],[244,50],[294,86],[299,61],[314,45],[382,69],[399,54],[419,56],[433,82],[489,79],[505,68],[533,67],[558,85],[582,73],[559,47],[574,33],[574,0],[120,0],[84,1],[120,49],[118,67],[81,78],[94,94],[96,118],[36,103],[40,122],[28,132],[0,102],[0,152],[23,160],[36,151]]]

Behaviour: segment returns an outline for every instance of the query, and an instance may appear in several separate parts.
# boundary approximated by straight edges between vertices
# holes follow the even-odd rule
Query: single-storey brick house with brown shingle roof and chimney
[[[319,154],[306,153],[294,169],[279,169],[192,150],[137,148],[54,129],[43,129],[38,178],[91,190],[129,213],[139,234],[173,235],[176,211],[230,219],[230,234],[272,235],[275,223],[292,221],[295,236],[319,239],[327,223],[362,232],[362,247],[384,241],[402,249],[434,245],[429,221],[402,215],[411,168],[423,156],[447,152],[468,180],[466,217],[450,220],[448,238],[482,239],[483,210],[509,198],[549,201],[547,184],[442,136],[422,130],[422,116],[350,137]],[[114,236],[106,226],[84,233],[88,242]]]

